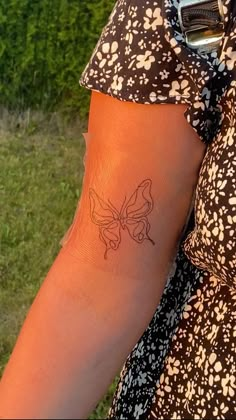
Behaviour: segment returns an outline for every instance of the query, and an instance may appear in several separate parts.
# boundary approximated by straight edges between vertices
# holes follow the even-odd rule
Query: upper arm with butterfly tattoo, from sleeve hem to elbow
[[[79,259],[132,277],[168,269],[205,151],[185,109],[92,91],[82,194],[65,244]]]

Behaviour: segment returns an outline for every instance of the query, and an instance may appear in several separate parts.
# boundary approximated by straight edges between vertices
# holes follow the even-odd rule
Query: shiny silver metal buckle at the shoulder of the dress
[[[178,17],[188,47],[204,53],[217,50],[224,34],[221,0],[180,0]]]

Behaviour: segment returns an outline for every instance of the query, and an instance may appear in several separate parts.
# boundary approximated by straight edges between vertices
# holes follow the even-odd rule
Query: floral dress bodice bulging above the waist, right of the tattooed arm
[[[195,200],[196,226],[183,247],[193,264],[236,290],[235,93],[233,81],[220,101],[221,129],[208,146],[201,166]]]

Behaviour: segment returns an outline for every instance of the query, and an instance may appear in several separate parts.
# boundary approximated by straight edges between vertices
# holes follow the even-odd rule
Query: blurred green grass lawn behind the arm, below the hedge
[[[0,136],[0,376],[80,196],[84,139]],[[93,411],[105,418],[118,377]]]

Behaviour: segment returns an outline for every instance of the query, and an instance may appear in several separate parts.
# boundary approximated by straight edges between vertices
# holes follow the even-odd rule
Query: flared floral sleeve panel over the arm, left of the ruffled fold
[[[189,81],[181,84],[184,71],[165,40],[161,8],[156,2],[146,4],[116,2],[80,84],[120,100],[186,102],[191,86]]]

